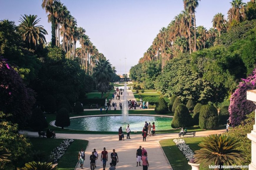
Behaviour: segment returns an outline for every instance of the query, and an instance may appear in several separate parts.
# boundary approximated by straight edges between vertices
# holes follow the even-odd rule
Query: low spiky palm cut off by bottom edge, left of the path
[[[44,170],[57,170],[57,166],[47,162],[28,162],[22,168],[17,168],[18,170],[34,170],[34,169],[44,169]]]

